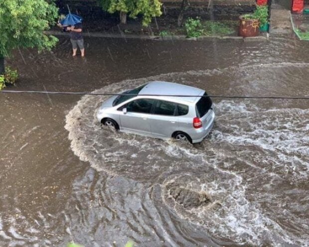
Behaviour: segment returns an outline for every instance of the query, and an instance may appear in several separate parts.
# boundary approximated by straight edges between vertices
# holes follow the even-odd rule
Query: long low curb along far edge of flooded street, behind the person
[[[45,34],[51,34],[56,36],[69,36],[69,33],[61,31],[45,31]],[[100,33],[100,32],[84,32],[84,37],[101,37],[101,38],[124,38],[124,39],[150,39],[150,40],[190,40],[190,41],[215,41],[215,40],[226,40],[226,41],[244,41],[244,42],[265,42],[268,40],[267,37],[257,36],[257,37],[248,37],[243,38],[239,36],[199,36],[198,38],[186,38],[185,35],[171,35],[171,36],[157,36],[157,35],[135,35],[135,34],[110,34],[110,33]]]

